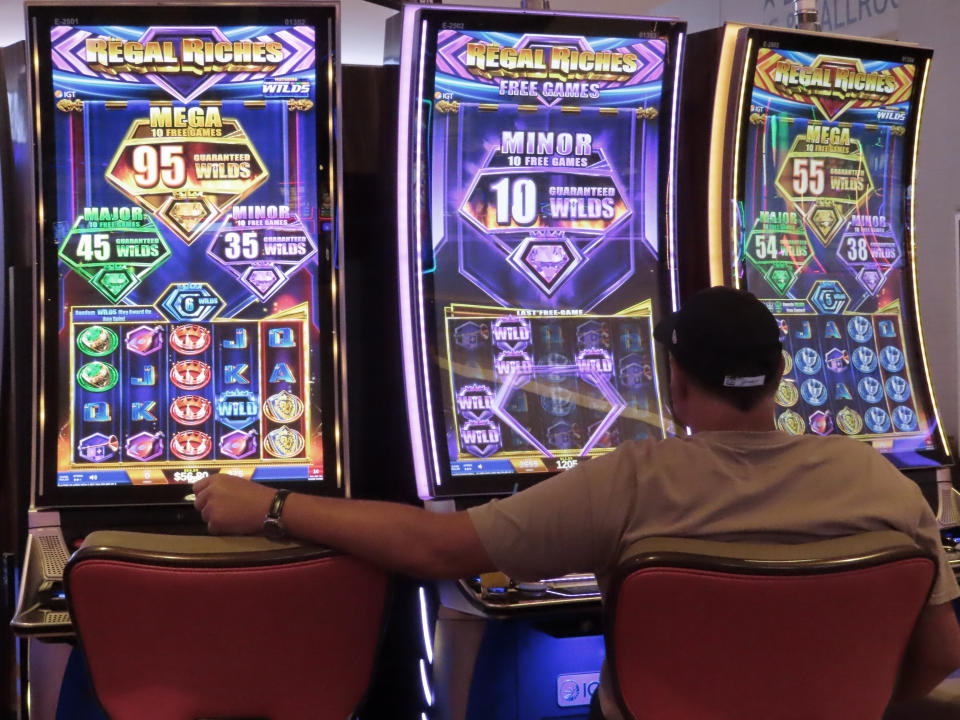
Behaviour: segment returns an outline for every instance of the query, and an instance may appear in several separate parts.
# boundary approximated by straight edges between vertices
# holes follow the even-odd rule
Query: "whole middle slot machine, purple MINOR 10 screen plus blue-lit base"
[[[392,20],[419,497],[463,509],[673,434],[652,329],[678,297],[684,24],[440,6]],[[438,593],[440,717],[584,716],[603,658],[592,575]],[[468,616],[498,620],[465,631]]]

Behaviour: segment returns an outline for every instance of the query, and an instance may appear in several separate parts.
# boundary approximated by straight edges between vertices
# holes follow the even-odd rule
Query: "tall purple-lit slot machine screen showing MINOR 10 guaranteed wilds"
[[[421,496],[509,492],[664,437],[652,327],[674,292],[666,174],[682,28],[422,17],[406,43],[419,54],[401,237],[420,297],[409,334],[426,358],[411,417],[430,438]]]

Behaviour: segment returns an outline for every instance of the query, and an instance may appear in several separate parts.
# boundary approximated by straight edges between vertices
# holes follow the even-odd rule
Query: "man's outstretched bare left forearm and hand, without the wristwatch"
[[[211,533],[259,533],[274,490],[226,475],[194,486]],[[291,494],[283,524],[292,537],[329,545],[388,570],[456,578],[493,570],[467,513],[432,513],[399,503]]]

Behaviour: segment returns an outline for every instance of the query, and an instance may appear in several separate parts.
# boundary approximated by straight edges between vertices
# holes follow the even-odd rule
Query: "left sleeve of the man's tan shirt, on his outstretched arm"
[[[616,557],[635,502],[632,445],[509,498],[470,508],[493,564],[518,580],[595,573],[607,566]]]

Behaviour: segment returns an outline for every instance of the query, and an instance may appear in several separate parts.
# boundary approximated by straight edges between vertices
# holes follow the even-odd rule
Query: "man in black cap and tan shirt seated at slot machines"
[[[896,699],[922,697],[960,667],[950,604],[960,588],[918,486],[866,443],[776,429],[784,360],[766,306],[745,291],[711,288],[663,319],[654,336],[669,350],[673,411],[690,437],[625,443],[464,512],[287,496],[224,475],[196,483],[196,507],[212,533],[279,524],[289,536],[414,576],[590,570],[603,592],[623,549],[643,537],[795,543],[898,530],[936,554],[939,567]],[[597,696],[602,716],[619,718],[603,682]],[[599,708],[592,712],[600,717]]]

